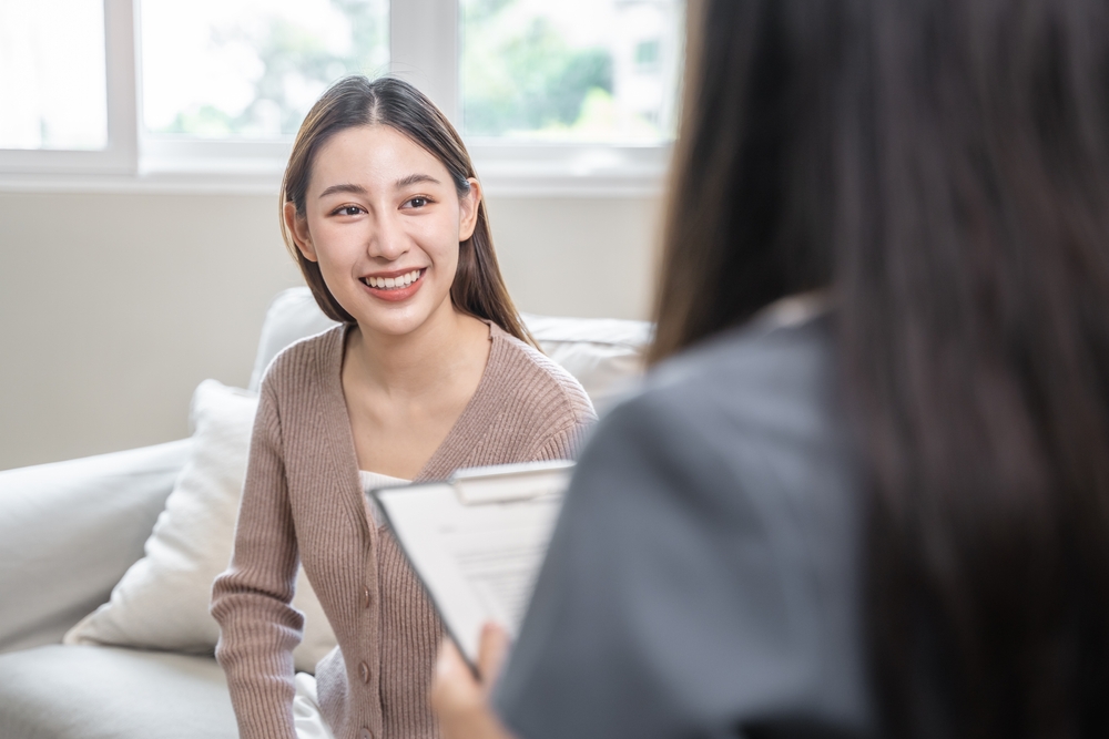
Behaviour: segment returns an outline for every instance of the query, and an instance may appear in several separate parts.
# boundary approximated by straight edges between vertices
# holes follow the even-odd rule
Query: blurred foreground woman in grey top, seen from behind
[[[1106,736],[1109,4],[690,6],[655,367],[445,736]]]

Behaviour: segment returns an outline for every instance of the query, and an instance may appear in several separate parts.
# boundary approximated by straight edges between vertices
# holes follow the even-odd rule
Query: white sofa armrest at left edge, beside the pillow
[[[143,554],[192,442],[0,472],[0,653],[61,640]]]

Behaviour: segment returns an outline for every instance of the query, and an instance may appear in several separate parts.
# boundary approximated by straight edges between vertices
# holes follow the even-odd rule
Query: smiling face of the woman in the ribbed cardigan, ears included
[[[458,244],[480,188],[458,196],[447,168],[385,125],[346,129],[317,152],[305,216],[285,220],[305,258],[366,331],[403,336],[450,314]]]

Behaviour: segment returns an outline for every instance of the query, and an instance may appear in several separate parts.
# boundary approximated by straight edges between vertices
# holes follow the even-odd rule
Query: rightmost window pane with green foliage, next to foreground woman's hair
[[[468,137],[641,144],[672,137],[676,0],[462,0],[461,8]]]

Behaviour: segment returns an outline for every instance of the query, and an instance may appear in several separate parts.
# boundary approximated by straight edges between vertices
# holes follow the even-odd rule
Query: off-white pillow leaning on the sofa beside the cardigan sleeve
[[[208,614],[212,581],[231,560],[246,470],[254,393],[205,380],[193,394],[193,451],[165,501],[146,555],[112,591],[111,599],[65,634],[65,644],[112,644],[212,654],[220,626]],[[305,615],[296,668],[314,673],[334,646],[327,617],[302,569],[293,599]]]

